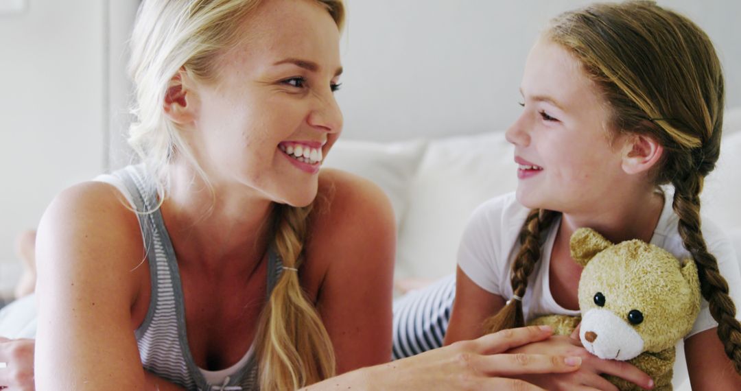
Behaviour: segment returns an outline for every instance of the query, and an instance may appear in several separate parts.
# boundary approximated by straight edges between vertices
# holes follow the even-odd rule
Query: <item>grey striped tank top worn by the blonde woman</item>
[[[111,176],[113,178],[111,178]],[[162,213],[157,206],[153,182],[144,167],[128,166],[111,176],[97,178],[124,191],[139,213],[151,275],[151,298],[144,322],[136,330],[139,355],[146,370],[185,387],[187,390],[257,390],[257,363],[254,355],[236,368],[222,384],[208,384],[190,355],[185,324],[185,304],[178,264]],[[120,187],[123,185],[123,189]],[[141,213],[150,212],[150,213]],[[268,295],[281,272],[275,252],[268,250]],[[225,298],[227,299],[227,298]],[[239,326],[237,326],[239,327]]]

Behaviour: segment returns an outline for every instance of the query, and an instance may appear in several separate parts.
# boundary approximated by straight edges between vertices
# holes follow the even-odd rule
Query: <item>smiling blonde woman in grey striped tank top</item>
[[[391,208],[319,170],[342,129],[343,16],[339,0],[144,1],[130,64],[142,162],[64,190],[39,225],[38,390],[536,390],[496,376],[578,368],[494,354],[547,328],[383,364]],[[28,356],[0,385],[33,386],[7,376],[28,375]]]

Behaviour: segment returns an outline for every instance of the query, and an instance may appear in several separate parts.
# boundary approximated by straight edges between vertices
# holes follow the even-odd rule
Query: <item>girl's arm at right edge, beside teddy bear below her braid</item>
[[[725,355],[717,328],[687,338],[685,358],[692,390],[741,390],[741,375]]]

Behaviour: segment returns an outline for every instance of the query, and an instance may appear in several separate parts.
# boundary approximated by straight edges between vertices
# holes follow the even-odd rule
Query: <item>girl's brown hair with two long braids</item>
[[[646,135],[664,148],[651,178],[657,186],[674,185],[679,235],[697,263],[720,341],[741,373],[741,326],[700,230],[700,193],[720,155],[724,104],[722,70],[711,40],[685,16],[653,1],[593,4],[563,13],[551,21],[545,37],[578,59],[597,85],[611,109],[612,136]],[[556,215],[532,210],[522,227],[511,280],[519,297],[525,296],[528,275],[540,258],[541,232]],[[516,327],[522,318],[522,304],[513,300],[485,327]]]

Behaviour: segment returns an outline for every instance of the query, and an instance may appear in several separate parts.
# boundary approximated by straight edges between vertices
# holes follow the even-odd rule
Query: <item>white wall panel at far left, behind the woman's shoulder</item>
[[[102,0],[27,0],[0,15],[0,289],[16,235],[104,167]]]

